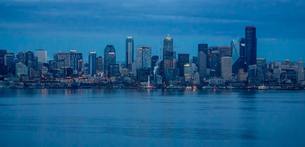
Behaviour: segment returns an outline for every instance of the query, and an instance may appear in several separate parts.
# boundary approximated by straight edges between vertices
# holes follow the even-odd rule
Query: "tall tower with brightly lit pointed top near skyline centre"
[[[174,52],[173,39],[170,38],[169,34],[163,39],[163,72],[165,73],[166,79],[168,79],[167,70],[169,68],[175,68],[176,52]]]

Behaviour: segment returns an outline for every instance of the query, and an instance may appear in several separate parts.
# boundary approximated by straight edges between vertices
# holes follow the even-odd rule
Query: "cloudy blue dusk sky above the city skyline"
[[[125,40],[151,45],[160,55],[170,34],[174,51],[197,56],[198,44],[227,46],[256,26],[257,57],[305,59],[305,1],[286,0],[0,0],[0,49],[20,52],[77,50],[104,54],[106,45],[125,61]]]

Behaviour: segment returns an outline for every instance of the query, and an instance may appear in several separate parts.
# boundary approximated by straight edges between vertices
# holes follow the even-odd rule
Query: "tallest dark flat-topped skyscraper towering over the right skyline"
[[[256,27],[245,27],[246,63],[247,65],[256,64]]]

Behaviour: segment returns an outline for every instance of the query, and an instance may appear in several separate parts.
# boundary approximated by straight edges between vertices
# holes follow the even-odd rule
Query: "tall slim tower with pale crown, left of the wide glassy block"
[[[126,39],[126,68],[129,68],[129,65],[134,62],[134,40],[131,36],[128,36]]]

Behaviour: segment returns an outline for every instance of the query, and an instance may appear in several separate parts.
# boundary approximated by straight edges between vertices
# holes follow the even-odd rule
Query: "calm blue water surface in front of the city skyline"
[[[305,146],[305,91],[0,89],[0,135],[0,146]]]

